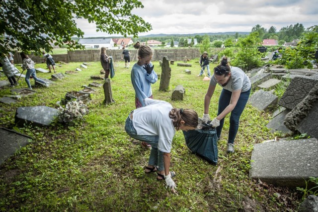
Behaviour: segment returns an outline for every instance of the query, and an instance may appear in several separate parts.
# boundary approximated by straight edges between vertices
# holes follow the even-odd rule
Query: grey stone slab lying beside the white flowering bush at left
[[[50,126],[58,114],[57,109],[48,106],[21,106],[16,109],[15,123],[19,126],[25,123],[33,126]]]

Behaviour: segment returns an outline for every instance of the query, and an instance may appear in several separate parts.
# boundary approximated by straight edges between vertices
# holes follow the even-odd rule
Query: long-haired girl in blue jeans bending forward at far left
[[[21,58],[22,58],[22,69],[25,70],[26,69],[26,74],[25,74],[25,82],[28,85],[29,89],[32,89],[31,87],[31,83],[30,83],[30,76],[32,76],[32,78],[45,85],[46,87],[49,86],[49,82],[45,82],[39,78],[36,77],[36,73],[35,73],[35,69],[34,69],[34,62],[31,60],[31,58],[29,58],[26,54],[24,54],[24,52],[20,53]]]

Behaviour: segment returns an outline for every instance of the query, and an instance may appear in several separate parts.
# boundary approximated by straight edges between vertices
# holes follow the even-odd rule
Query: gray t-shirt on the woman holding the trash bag
[[[211,77],[210,85],[216,86],[218,84],[217,80],[214,78],[214,74]],[[221,84],[219,84],[222,86]],[[241,89],[241,92],[248,91],[250,89],[250,81],[247,75],[238,67],[231,68],[231,78],[229,83],[222,87],[228,91],[237,91]]]

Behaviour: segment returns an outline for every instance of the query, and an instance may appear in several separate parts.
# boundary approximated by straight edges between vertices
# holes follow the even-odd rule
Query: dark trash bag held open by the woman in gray
[[[187,147],[195,154],[208,162],[218,163],[218,138],[217,130],[210,124],[199,119],[198,128],[195,130],[182,131]]]

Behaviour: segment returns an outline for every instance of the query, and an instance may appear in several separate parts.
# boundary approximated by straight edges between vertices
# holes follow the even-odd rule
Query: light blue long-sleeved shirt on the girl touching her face
[[[153,64],[150,63],[150,67],[152,66]],[[131,70],[130,77],[131,83],[133,84],[133,87],[135,89],[135,97],[138,98],[142,106],[146,106],[144,100],[153,95],[153,92],[151,90],[151,84],[154,84],[158,81],[158,76],[155,70],[153,70],[151,74],[147,74],[143,66],[140,66],[137,63],[135,63]]]

